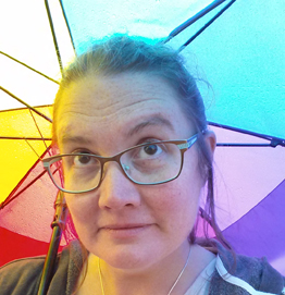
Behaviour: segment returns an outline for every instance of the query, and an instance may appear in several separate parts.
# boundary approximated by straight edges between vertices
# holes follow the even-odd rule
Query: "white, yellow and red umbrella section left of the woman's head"
[[[74,50],[60,3],[53,2],[49,8],[61,40],[58,46],[64,64],[74,56]],[[58,90],[61,64],[44,1],[2,3],[0,24],[2,265],[23,256],[47,253],[57,189],[42,174],[39,158],[49,153],[50,105]],[[30,111],[27,106],[36,107]]]

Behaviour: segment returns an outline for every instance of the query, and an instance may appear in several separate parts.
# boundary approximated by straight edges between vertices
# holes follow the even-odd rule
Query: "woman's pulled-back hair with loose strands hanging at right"
[[[78,56],[64,71],[53,108],[53,144],[57,145],[58,140],[55,132],[58,108],[61,103],[64,89],[66,89],[71,83],[77,82],[86,76],[109,76],[132,72],[148,73],[164,78],[164,81],[176,90],[177,102],[181,105],[182,110],[196,132],[205,133],[205,131],[207,131],[208,124],[203,100],[198,90],[196,79],[187,71],[182,56],[165,45],[150,45],[149,42],[142,41],[141,38],[131,38],[121,35],[96,42],[88,51]],[[196,225],[189,233],[189,241],[190,243],[215,247],[208,234],[209,226],[211,226],[215,238],[225,247],[232,249],[216,224],[212,155],[206,145],[205,136],[199,136],[197,144],[199,169],[208,190],[206,206],[203,210],[200,209],[199,211],[203,220],[205,237],[202,241],[197,238],[199,222],[199,218],[197,218]],[[70,228],[73,232],[74,226],[72,225],[72,220]]]

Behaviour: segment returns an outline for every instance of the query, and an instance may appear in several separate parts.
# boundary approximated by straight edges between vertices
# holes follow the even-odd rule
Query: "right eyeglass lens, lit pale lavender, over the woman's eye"
[[[141,184],[156,184],[175,179],[181,170],[182,156],[174,144],[150,143],[126,151],[122,167],[129,179]]]

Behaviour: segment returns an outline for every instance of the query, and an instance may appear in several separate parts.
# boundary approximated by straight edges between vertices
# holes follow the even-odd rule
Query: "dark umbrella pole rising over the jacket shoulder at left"
[[[49,250],[46,256],[37,295],[47,294],[50,281],[52,279],[52,275],[54,274],[54,265],[57,260],[58,249],[60,246],[61,235],[65,225],[65,219],[67,214],[67,207],[63,197],[63,193],[61,190],[57,196],[54,209],[55,213],[53,222],[51,223],[52,235],[50,238]]]

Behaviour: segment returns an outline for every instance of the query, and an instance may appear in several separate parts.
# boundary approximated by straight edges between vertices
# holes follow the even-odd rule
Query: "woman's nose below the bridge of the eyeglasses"
[[[106,163],[102,182],[98,188],[99,207],[113,210],[138,207],[140,205],[140,194],[137,186],[123,174],[119,163]]]

